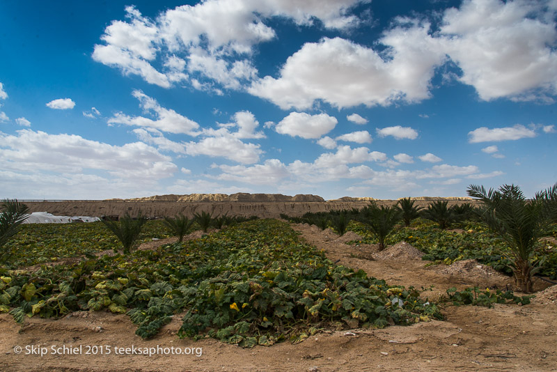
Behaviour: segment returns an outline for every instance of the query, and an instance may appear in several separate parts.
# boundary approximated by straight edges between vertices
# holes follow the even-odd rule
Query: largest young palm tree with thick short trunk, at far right
[[[557,190],[557,184],[554,191]],[[551,189],[527,200],[520,187],[503,185],[486,191],[470,185],[469,196],[483,201],[480,218],[510,247],[515,282],[523,292],[532,291],[532,275],[540,268],[532,263],[539,239],[551,223],[557,193]]]

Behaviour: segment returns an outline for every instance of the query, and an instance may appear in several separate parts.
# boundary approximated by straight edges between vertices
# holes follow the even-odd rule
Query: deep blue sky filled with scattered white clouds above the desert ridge
[[[164,3],[164,5],[161,5]],[[0,2],[0,198],[557,180],[557,1]]]

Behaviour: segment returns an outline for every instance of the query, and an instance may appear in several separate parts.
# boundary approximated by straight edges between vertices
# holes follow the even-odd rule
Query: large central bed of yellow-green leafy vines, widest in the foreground
[[[241,346],[303,339],[322,323],[384,327],[441,318],[417,290],[335,265],[276,220],[125,256],[5,272],[0,293],[0,311],[18,322],[107,309],[127,313],[136,333],[149,337],[187,310],[180,336],[210,334]]]

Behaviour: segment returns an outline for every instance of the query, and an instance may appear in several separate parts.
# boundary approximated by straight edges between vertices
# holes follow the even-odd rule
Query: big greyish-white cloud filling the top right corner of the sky
[[[524,0],[466,0],[446,10],[441,35],[446,53],[462,69],[460,81],[483,100],[555,94],[554,15],[544,1]]]

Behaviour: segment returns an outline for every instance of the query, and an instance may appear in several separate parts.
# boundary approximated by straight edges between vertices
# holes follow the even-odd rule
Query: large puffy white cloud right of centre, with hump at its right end
[[[339,108],[419,102],[430,97],[434,66],[445,59],[428,30],[426,25],[387,31],[381,42],[390,47],[389,61],[343,38],[307,42],[288,57],[280,77],[263,77],[248,91],[283,109],[305,109],[315,100]]]

